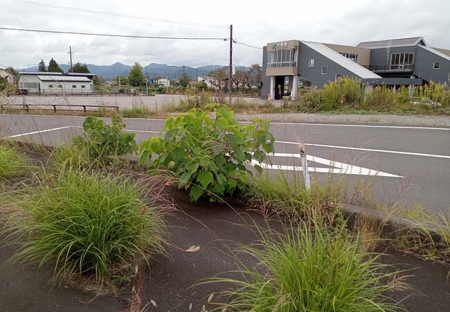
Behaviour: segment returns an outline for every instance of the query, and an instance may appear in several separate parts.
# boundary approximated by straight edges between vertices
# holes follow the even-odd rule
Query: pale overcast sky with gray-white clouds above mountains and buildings
[[[0,27],[50,31],[109,33],[168,37],[229,37],[226,28],[170,24],[161,21],[113,17],[62,8],[0,0]],[[397,1],[123,1],[78,0],[51,3],[89,10],[170,19],[209,25],[233,24],[235,40],[264,46],[282,40],[310,40],[356,45],[361,41],[423,35],[427,44],[450,49],[449,0]],[[228,42],[149,40],[57,35],[0,30],[0,64],[17,68],[50,58],[68,63],[69,45],[74,62],[109,65],[162,63],[200,67],[228,64]],[[233,63],[248,66],[262,61],[262,50],[237,45]]]

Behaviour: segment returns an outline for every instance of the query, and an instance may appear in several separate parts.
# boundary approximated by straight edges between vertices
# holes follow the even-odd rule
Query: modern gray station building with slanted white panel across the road
[[[431,81],[449,85],[450,50],[431,48],[423,37],[361,42],[357,46],[287,40],[263,48],[264,99],[278,100],[287,92],[296,98],[299,79],[323,87],[339,77],[394,89]]]

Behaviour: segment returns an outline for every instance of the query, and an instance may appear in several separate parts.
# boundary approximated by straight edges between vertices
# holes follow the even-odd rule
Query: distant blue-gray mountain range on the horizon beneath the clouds
[[[60,64],[61,69],[64,72],[69,71],[70,66],[66,64]],[[89,68],[89,71],[91,73],[95,73],[97,76],[100,76],[104,79],[112,79],[116,76],[127,76],[129,71],[132,69],[131,66],[122,64],[122,63],[114,63],[112,65],[95,65],[95,64],[87,64],[87,67]],[[166,65],[166,64],[156,64],[152,63],[145,68],[143,66],[143,73],[145,74],[145,70],[147,69],[147,73],[149,78],[162,76],[162,77],[168,77],[170,79],[176,79],[183,74],[183,71],[188,73],[190,78],[195,79],[197,76],[208,76],[208,73],[210,71],[213,71],[215,69],[218,69],[222,66],[220,65],[206,65],[202,67],[182,67],[182,66],[173,66],[173,65]],[[24,71],[37,71],[38,67],[28,67],[24,69]],[[248,69],[248,67],[236,67],[236,70],[238,69]]]

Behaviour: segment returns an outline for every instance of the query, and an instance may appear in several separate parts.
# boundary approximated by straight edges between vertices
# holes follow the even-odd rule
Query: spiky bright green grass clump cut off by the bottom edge
[[[240,279],[215,277],[206,283],[234,287],[220,293],[219,309],[258,312],[397,311],[401,304],[386,297],[404,287],[379,254],[362,251],[345,226],[300,225],[282,233],[259,229],[260,241],[238,248],[257,266],[240,263]],[[248,257],[246,257],[248,258]],[[222,310],[224,311],[224,310]]]

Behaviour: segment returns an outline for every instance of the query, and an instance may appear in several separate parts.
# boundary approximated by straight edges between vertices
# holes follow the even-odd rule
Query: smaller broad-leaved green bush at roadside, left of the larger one
[[[88,116],[83,123],[83,135],[73,139],[73,145],[86,150],[89,158],[102,160],[105,157],[125,155],[136,150],[134,133],[122,132],[125,123],[118,115],[111,116],[111,124]]]

